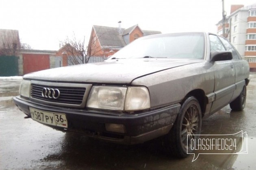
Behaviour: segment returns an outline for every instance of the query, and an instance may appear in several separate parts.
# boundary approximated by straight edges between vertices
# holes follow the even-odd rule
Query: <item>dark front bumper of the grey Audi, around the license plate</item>
[[[180,110],[180,104],[173,104],[136,115],[115,115],[101,113],[99,110],[46,106],[30,100],[24,100],[20,96],[13,98],[13,100],[28,117],[31,117],[29,107],[54,113],[65,113],[68,128],[48,125],[56,130],[80,133],[123,144],[143,143],[167,134],[171,130]],[[125,133],[108,132],[106,123],[124,125]]]

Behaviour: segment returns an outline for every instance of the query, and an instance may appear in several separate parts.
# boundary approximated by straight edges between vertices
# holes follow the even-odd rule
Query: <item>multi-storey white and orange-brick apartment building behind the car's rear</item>
[[[222,20],[217,26],[217,34],[223,36]],[[249,62],[250,71],[256,72],[256,4],[249,6],[231,5],[226,17],[224,35]]]

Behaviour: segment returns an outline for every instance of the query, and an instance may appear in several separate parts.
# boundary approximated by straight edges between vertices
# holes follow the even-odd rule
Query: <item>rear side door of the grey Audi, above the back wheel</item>
[[[239,55],[239,53],[232,47],[232,45],[226,40],[225,38],[219,37],[221,42],[223,43],[224,47],[232,52],[232,62],[234,64],[235,68],[235,85],[236,89],[234,91],[234,94],[232,96],[231,100],[234,100],[239,94],[241,93],[243,86],[245,85],[245,72],[247,71],[246,63],[244,60],[242,60],[242,57]]]

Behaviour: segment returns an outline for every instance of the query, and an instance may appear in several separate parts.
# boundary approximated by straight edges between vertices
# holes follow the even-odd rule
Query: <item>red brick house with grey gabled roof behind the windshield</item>
[[[93,26],[88,44],[89,62],[101,62],[133,40],[147,35],[161,34],[160,31],[142,30],[138,24],[130,28]]]

